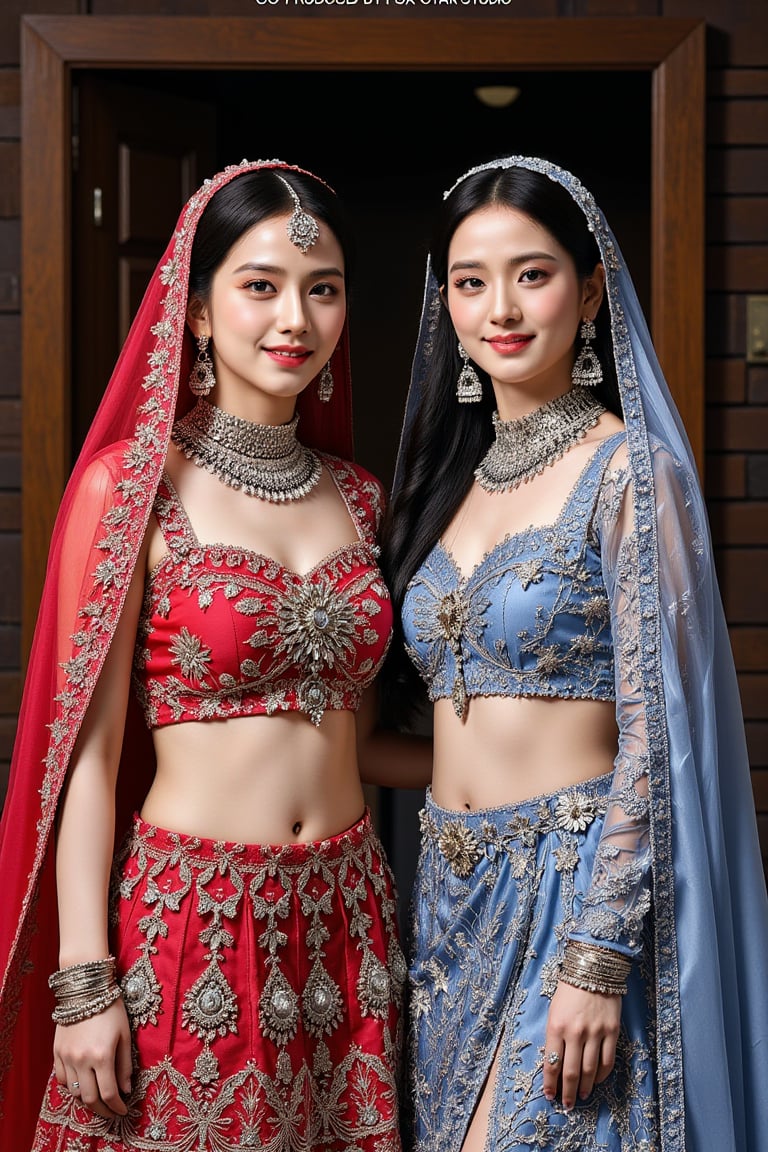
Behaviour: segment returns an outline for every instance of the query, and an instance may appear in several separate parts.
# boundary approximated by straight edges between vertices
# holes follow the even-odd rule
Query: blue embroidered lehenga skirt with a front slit
[[[496,1052],[487,1152],[657,1152],[649,927],[613,1073],[568,1114],[543,1096],[549,1002],[610,782],[472,812],[439,808],[427,793],[409,972],[404,1145],[413,1152],[459,1152]]]

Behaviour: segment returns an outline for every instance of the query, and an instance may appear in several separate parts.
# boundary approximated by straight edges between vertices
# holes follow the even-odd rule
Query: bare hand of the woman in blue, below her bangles
[[[565,1112],[610,1074],[622,1018],[622,998],[585,992],[561,982],[549,1006],[543,1048],[543,1094],[560,1094]],[[555,1060],[555,1055],[557,1060]]]

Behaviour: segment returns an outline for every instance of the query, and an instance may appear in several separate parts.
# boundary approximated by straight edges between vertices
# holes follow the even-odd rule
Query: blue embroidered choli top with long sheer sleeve
[[[630,472],[604,440],[553,524],[504,537],[463,577],[442,543],[403,601],[405,646],[429,698],[616,702],[618,751],[592,884],[568,935],[640,950],[651,905],[647,738],[640,689],[638,538]]]

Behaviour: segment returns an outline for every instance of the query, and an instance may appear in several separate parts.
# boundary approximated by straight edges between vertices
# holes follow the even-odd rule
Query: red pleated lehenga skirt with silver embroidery
[[[405,965],[367,814],[281,847],[137,818],[112,915],[128,1115],[102,1120],[52,1076],[32,1152],[401,1152]]]

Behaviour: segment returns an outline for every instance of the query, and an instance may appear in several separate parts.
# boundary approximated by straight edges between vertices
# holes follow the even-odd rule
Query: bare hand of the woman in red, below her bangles
[[[59,1084],[99,1116],[124,1116],[130,1092],[131,1045],[122,999],[77,1024],[59,1024],[53,1040]],[[122,1094],[121,1094],[122,1093]]]

